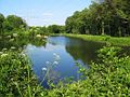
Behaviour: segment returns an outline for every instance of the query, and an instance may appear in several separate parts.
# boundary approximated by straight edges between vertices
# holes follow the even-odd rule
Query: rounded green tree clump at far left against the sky
[[[3,37],[5,33],[17,33],[25,30],[27,30],[27,24],[23,18],[16,15],[4,17],[0,14],[0,36]]]

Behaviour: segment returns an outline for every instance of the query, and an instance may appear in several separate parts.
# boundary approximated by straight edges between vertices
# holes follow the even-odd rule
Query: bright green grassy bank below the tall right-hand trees
[[[113,45],[130,46],[130,37],[116,38],[116,37],[109,37],[109,36],[70,34],[70,33],[64,33],[62,36],[72,37],[72,38],[80,38],[80,39],[87,40],[87,41],[110,43]]]

